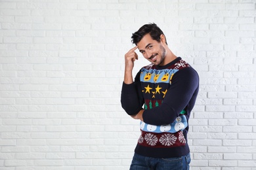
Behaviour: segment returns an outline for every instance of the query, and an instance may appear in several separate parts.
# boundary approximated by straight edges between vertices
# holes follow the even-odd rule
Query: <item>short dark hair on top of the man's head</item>
[[[161,31],[161,29],[160,29],[160,27],[158,27],[158,25],[152,23],[152,24],[143,25],[142,27],[140,27],[140,29],[138,31],[133,33],[133,35],[131,36],[131,39],[132,39],[131,42],[133,42],[133,44],[137,45],[140,42],[140,40],[144,37],[144,35],[146,35],[148,33],[150,34],[152,39],[154,39],[158,42],[161,41],[160,35],[163,34],[163,31]],[[166,38],[165,38],[165,43],[167,44]]]

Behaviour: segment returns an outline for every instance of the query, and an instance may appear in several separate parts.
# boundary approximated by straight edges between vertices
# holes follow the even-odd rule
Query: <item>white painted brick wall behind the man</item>
[[[200,74],[191,167],[256,169],[255,0],[1,0],[0,169],[128,169],[131,33],[158,24]],[[135,73],[148,62],[139,56]]]

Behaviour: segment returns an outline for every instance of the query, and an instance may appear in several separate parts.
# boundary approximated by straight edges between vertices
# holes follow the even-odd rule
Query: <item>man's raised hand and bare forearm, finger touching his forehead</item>
[[[124,78],[125,84],[133,83],[132,71],[134,67],[134,61],[138,59],[138,54],[135,52],[137,48],[138,47],[135,46],[125,54],[125,78]]]

